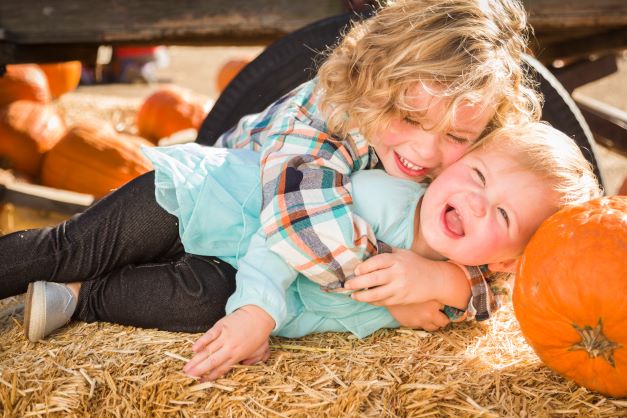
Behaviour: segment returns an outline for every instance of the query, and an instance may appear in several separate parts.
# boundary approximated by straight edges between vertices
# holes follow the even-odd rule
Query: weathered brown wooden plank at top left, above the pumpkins
[[[4,41],[210,42],[276,38],[344,11],[340,0],[3,0]]]

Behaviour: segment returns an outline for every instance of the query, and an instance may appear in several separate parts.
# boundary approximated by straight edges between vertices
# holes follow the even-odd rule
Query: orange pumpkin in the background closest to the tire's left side
[[[143,102],[137,112],[139,135],[157,143],[183,129],[200,128],[209,102],[190,90],[177,86],[161,87]]]

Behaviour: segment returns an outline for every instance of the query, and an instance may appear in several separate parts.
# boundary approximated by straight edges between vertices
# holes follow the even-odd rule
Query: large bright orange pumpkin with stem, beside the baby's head
[[[627,197],[547,219],[525,249],[513,304],[547,366],[591,390],[627,396]]]

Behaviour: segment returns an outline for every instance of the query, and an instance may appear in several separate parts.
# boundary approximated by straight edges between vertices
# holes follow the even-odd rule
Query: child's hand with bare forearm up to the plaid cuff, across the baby
[[[461,268],[445,261],[426,259],[413,251],[394,249],[359,264],[355,277],[344,287],[351,297],[377,306],[409,305],[436,300],[465,309],[470,284]]]

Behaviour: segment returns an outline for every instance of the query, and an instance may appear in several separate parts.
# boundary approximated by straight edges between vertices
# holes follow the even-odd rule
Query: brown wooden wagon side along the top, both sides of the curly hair
[[[85,59],[98,45],[267,44],[311,22],[345,12],[349,0],[2,0],[0,65]],[[524,0],[543,62],[569,48],[625,47],[625,0]],[[619,39],[622,36],[622,40]],[[555,38],[564,43],[556,45]],[[584,39],[585,38],[585,39]],[[568,44],[568,41],[574,42]],[[582,39],[584,41],[582,42]],[[546,42],[544,45],[542,43]],[[549,44],[550,43],[550,44]],[[48,51],[44,51],[48,48]]]

